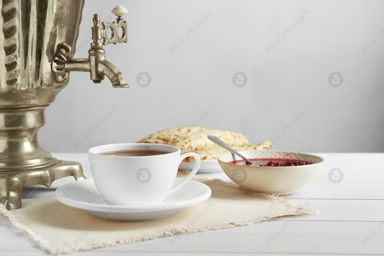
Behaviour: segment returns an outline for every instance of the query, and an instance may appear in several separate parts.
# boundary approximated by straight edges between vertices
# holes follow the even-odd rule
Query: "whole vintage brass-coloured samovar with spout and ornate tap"
[[[25,186],[85,178],[80,163],[53,158],[37,140],[44,110],[68,84],[70,72],[89,72],[93,83],[107,76],[113,87],[129,87],[103,49],[127,42],[122,15],[128,11],[118,5],[112,10],[116,21],[102,27],[94,14],[89,56],[73,59],[83,5],[81,0],[0,0],[0,203],[8,210],[22,206]]]

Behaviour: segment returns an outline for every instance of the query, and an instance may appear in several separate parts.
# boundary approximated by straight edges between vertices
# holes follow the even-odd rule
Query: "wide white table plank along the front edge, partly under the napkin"
[[[275,232],[280,232],[282,226],[286,230],[280,236]],[[367,221],[294,221],[288,226],[284,221],[264,221],[255,225],[243,226],[227,230],[207,231],[204,233],[187,234],[179,237],[179,240],[172,247],[170,239],[172,237],[157,238],[132,244],[119,245],[119,247],[109,247],[96,249],[90,252],[81,253],[83,255],[104,255],[106,252],[121,253],[122,250],[127,255],[179,255],[180,253],[196,253],[205,255],[212,253],[215,255],[235,255],[253,253],[256,255],[273,254],[293,254],[299,253],[306,255],[341,254],[341,255],[383,255],[384,250],[384,230],[380,231],[376,237],[372,236],[369,243],[362,243],[366,235],[377,230],[377,226],[383,223]],[[3,227],[2,227],[3,228]],[[17,234],[17,231],[7,230],[0,233],[1,252],[12,248],[23,252],[23,248],[33,252],[41,251],[25,235]],[[13,239],[17,238],[17,241]],[[266,240],[272,243],[267,243]],[[22,247],[20,246],[20,244]],[[269,245],[269,246],[268,246]],[[142,254],[138,254],[142,252]],[[146,254],[147,253],[147,254]],[[45,254],[45,253],[44,253]],[[3,255],[3,254],[2,254]],[[6,255],[6,254],[4,254]],[[38,254],[40,255],[40,254]],[[47,254],[45,254],[47,255]],[[125,255],[125,254],[124,254]]]

